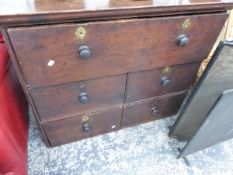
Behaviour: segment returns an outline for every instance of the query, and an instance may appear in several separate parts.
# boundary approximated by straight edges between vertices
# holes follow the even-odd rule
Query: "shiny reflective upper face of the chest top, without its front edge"
[[[0,0],[0,15],[149,7],[227,5],[233,0]],[[200,7],[201,8],[201,7]]]

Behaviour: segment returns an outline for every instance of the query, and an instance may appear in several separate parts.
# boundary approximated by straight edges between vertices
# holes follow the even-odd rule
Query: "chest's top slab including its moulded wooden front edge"
[[[233,0],[0,0],[0,7],[0,24],[8,25],[213,12]]]

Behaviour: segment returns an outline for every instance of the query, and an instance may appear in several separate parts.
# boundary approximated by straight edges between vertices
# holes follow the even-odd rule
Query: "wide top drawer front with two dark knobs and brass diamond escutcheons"
[[[8,30],[31,87],[200,61],[226,13],[21,27]]]

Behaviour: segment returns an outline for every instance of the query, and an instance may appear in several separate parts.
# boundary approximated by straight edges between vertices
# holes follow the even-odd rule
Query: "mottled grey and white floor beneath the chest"
[[[47,148],[31,116],[29,175],[232,175],[233,140],[176,159],[184,143],[167,136],[175,117]]]

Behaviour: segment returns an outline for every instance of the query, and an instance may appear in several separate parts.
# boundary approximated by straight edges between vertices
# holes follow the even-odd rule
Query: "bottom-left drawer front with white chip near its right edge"
[[[51,146],[120,129],[122,108],[77,116],[46,124],[43,128]]]

